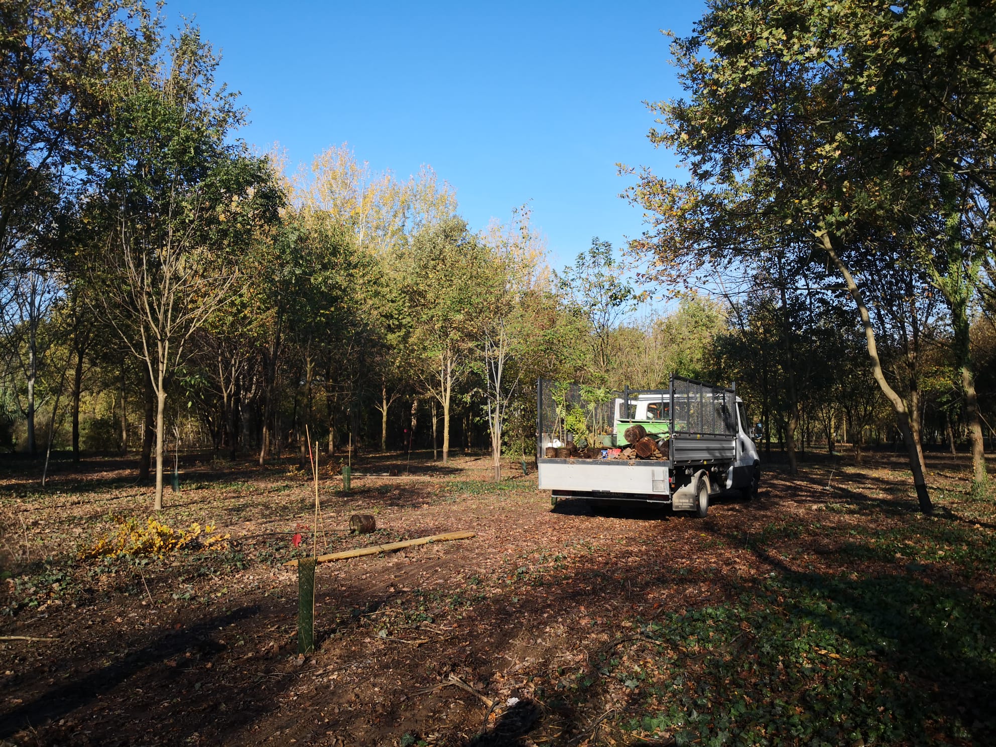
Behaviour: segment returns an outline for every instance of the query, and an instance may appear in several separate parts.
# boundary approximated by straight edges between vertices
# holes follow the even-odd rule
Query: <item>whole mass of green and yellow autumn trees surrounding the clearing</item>
[[[735,379],[793,471],[904,444],[929,509],[922,446],[967,438],[984,488],[996,29],[971,3],[710,3],[672,45],[689,100],[652,107],[689,177],[630,190],[632,282],[599,239],[552,271],[528,206],[472,229],[427,167],[344,145],[288,175],[236,139],[198,30],[138,0],[0,17],[7,448],[136,452],[156,508],[191,447],[484,446],[500,477],[538,377],[677,373]]]

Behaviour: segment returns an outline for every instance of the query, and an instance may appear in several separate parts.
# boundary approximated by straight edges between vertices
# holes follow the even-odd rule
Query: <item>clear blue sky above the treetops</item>
[[[170,0],[223,54],[250,110],[242,136],[292,166],[349,142],[375,170],[431,165],[473,228],[531,201],[560,267],[598,235],[621,245],[640,212],[616,163],[673,171],[646,140],[643,100],[677,96],[660,29],[687,34],[687,2]]]

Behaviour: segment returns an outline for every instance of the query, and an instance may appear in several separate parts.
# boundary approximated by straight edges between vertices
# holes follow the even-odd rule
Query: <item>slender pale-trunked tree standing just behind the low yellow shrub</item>
[[[256,223],[275,219],[280,197],[268,161],[226,142],[242,114],[215,86],[218,59],[198,31],[184,29],[153,59],[112,113],[93,221],[106,231],[97,296],[155,396],[159,510],[170,376],[191,336],[231,298],[239,250]]]

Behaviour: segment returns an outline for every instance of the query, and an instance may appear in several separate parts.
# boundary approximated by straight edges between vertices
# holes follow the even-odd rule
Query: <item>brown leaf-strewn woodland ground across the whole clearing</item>
[[[323,472],[319,552],[476,536],[319,566],[303,658],[283,563],[311,552],[307,471],[191,456],[156,518],[227,541],[79,560],[149,487],[9,461],[0,744],[993,744],[993,502],[964,455],[927,459],[932,517],[871,455],[769,468],[697,520],[373,456],[351,494]],[[356,512],[378,531],[344,532]]]

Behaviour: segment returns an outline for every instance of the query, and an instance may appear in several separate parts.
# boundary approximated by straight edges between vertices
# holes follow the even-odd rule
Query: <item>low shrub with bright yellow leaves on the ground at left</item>
[[[77,556],[80,560],[124,555],[153,555],[163,558],[184,548],[211,548],[222,550],[227,547],[229,535],[215,534],[213,524],[201,527],[193,523],[186,529],[173,529],[149,517],[143,525],[137,519],[117,517],[118,529],[99,537],[91,544],[83,545]]]

